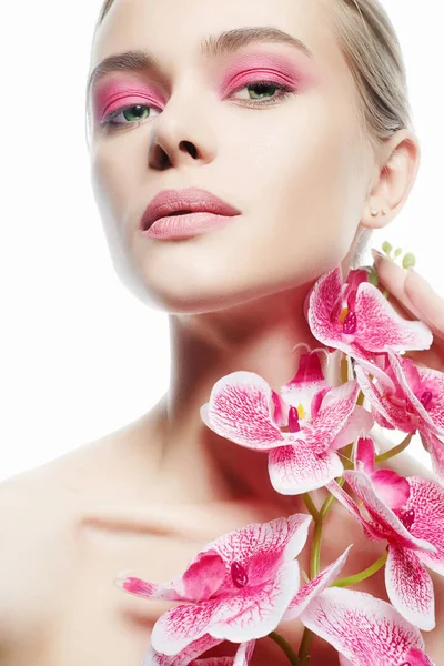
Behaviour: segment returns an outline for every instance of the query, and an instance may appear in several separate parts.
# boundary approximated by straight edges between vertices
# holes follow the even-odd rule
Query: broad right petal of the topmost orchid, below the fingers
[[[355,340],[370,352],[427,350],[433,342],[428,326],[403,319],[370,282],[357,287]]]

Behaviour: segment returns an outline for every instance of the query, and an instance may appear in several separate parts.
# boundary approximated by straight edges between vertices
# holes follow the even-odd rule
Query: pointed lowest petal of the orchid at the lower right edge
[[[413,551],[390,545],[385,587],[390,601],[405,619],[425,632],[434,628],[432,578]]]

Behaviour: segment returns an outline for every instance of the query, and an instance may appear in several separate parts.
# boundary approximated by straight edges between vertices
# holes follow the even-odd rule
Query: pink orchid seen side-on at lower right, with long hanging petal
[[[435,626],[434,591],[425,568],[444,575],[444,487],[421,476],[400,476],[374,470],[374,443],[361,437],[355,446],[355,470],[344,477],[360,497],[370,519],[336,483],[327,490],[361,522],[371,539],[386,539],[385,587],[395,608],[412,624]]]

